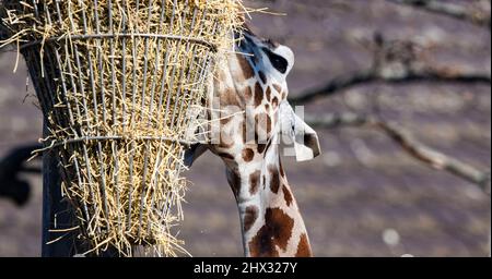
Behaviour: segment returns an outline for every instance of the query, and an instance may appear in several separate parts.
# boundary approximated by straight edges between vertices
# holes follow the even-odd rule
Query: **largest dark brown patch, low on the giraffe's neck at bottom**
[[[292,236],[294,220],[280,208],[267,208],[265,225],[249,242],[254,257],[279,256],[277,247],[285,250]]]

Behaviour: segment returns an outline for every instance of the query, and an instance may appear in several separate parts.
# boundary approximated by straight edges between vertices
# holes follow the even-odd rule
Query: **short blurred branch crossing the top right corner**
[[[450,16],[457,20],[491,28],[491,15],[481,11],[471,11],[456,3],[438,0],[388,0],[389,2],[410,5],[432,13]],[[490,4],[490,3],[489,3]]]

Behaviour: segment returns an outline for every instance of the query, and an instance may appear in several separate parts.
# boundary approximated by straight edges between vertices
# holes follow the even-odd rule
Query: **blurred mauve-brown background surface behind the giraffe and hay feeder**
[[[290,97],[321,142],[313,161],[284,158],[315,255],[488,256],[490,1],[245,4],[285,14],[253,13],[251,24],[294,50]],[[15,53],[0,53],[0,158],[42,132],[26,69],[21,61],[13,74],[14,63]],[[187,250],[242,256],[221,160],[208,154],[187,175]],[[22,179],[32,185],[24,206],[0,199],[0,256],[40,255],[42,180]]]

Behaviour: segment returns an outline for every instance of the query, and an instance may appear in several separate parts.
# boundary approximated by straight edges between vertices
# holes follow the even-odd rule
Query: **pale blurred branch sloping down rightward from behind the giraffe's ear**
[[[436,170],[444,170],[465,179],[491,193],[491,172],[481,171],[459,159],[440,153],[414,138],[403,128],[389,123],[376,116],[363,116],[353,112],[332,113],[327,116],[306,116],[306,122],[324,129],[344,126],[370,126],[389,136],[398,146],[414,159]]]

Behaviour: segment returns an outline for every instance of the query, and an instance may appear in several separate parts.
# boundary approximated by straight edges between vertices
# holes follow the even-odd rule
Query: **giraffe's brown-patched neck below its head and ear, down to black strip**
[[[283,172],[278,146],[261,160],[227,166],[246,256],[312,256],[304,220]]]

